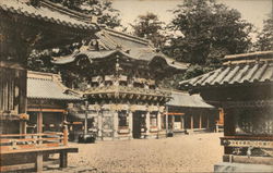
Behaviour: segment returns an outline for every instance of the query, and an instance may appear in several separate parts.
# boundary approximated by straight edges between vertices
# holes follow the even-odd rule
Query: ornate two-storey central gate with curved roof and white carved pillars
[[[182,73],[187,64],[164,55],[146,39],[107,28],[96,36],[52,63],[62,67],[64,84],[88,100],[97,139],[166,135],[163,119],[171,94],[162,89],[162,79]]]

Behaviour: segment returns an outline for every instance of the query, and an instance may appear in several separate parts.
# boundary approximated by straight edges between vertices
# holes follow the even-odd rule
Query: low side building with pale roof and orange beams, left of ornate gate
[[[58,74],[27,71],[27,133],[62,132],[70,103],[81,102]]]

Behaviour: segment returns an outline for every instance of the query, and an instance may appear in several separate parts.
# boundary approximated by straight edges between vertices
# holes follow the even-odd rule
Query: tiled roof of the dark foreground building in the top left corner
[[[39,8],[34,8],[24,0],[0,0],[0,10],[68,27],[87,30],[97,28],[96,24],[91,23],[92,16],[69,10],[47,0],[40,1],[40,4]]]

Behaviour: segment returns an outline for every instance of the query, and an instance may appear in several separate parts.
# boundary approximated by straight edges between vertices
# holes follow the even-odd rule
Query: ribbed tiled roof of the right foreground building
[[[200,75],[198,77],[180,82],[180,87],[186,89],[204,88],[204,87],[217,87],[217,86],[236,86],[242,84],[265,84],[273,82],[273,53],[268,54],[266,59],[260,61],[259,54],[251,53],[251,58],[254,55],[256,61],[246,60],[247,55],[244,55],[242,63],[238,57],[226,57],[225,59],[233,59],[232,62],[223,67]],[[238,61],[234,63],[234,61]]]

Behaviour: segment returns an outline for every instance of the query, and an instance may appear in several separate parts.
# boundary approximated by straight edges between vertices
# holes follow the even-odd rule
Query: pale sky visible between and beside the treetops
[[[244,20],[252,23],[258,30],[263,26],[263,20],[272,11],[273,0],[216,0],[229,8],[237,9]],[[153,12],[166,24],[174,15],[168,10],[175,9],[182,0],[112,0],[114,9],[120,11],[121,24],[128,26],[138,15]]]

